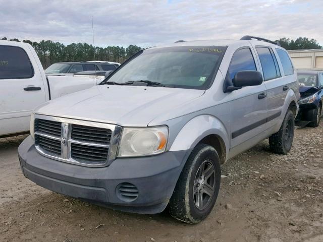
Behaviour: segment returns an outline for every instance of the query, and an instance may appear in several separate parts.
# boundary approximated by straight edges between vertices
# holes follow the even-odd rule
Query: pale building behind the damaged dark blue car
[[[296,69],[323,69],[323,49],[288,50]]]

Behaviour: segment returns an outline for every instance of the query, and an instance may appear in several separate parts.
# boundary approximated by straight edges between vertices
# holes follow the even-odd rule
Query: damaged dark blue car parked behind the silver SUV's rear
[[[297,74],[301,97],[296,125],[317,127],[322,115],[323,71],[299,70]]]

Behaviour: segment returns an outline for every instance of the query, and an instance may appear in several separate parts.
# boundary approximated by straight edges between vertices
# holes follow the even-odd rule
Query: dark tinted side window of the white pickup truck
[[[32,78],[34,70],[23,48],[0,45],[0,79]]]

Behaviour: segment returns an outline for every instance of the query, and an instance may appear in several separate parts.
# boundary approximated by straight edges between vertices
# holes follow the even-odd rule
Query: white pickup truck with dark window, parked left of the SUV
[[[39,104],[90,88],[102,77],[45,76],[28,43],[0,40],[0,138],[27,133]]]

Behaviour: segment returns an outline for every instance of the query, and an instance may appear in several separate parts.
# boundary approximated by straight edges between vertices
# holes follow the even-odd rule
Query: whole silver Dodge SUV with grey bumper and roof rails
[[[286,50],[262,38],[148,48],[100,85],[36,108],[21,168],[61,194],[136,213],[169,205],[198,223],[221,164],[266,138],[275,153],[291,149],[298,88]]]

